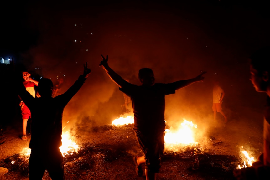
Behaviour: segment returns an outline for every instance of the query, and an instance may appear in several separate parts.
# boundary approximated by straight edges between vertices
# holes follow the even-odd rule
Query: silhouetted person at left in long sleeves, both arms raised
[[[29,180],[41,180],[47,169],[52,180],[64,180],[64,161],[59,147],[62,146],[62,116],[70,99],[80,90],[91,70],[84,64],[83,75],[62,95],[52,97],[53,83],[41,79],[38,84],[40,97],[34,98],[22,83],[18,94],[31,111],[31,139],[29,148]]]

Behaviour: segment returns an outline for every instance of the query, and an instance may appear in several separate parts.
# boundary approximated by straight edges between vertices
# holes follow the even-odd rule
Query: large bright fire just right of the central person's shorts
[[[194,140],[193,128],[197,128],[196,124],[192,121],[187,121],[181,123],[181,126],[176,129],[170,127],[170,129],[165,130],[165,149],[168,151],[178,151],[179,146],[186,146],[189,144],[197,144]]]

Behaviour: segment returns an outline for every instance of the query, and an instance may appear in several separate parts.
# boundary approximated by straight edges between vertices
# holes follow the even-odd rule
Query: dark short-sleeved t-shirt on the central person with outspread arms
[[[165,95],[175,93],[176,88],[173,84],[156,83],[153,86],[138,86],[127,82],[119,90],[131,97],[134,129],[164,131]]]

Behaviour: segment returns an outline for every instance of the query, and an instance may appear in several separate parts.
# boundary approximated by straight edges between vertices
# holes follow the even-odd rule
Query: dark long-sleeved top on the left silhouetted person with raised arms
[[[31,111],[31,140],[29,148],[54,148],[62,145],[62,116],[70,99],[78,92],[85,78],[81,75],[64,94],[55,98],[31,96],[22,84],[18,94]]]

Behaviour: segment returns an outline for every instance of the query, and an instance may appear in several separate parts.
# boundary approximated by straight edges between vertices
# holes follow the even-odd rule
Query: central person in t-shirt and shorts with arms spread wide
[[[118,86],[119,90],[131,97],[134,112],[134,132],[143,156],[135,156],[135,171],[138,176],[143,176],[142,165],[145,163],[145,176],[147,180],[156,179],[156,173],[161,167],[161,155],[164,150],[164,130],[165,130],[165,95],[175,93],[185,86],[200,82],[204,79],[201,73],[195,78],[180,80],[173,83],[155,83],[152,69],[143,68],[139,70],[139,80],[142,85],[134,85],[122,79],[108,65],[106,59],[101,55],[100,66],[107,75]]]

